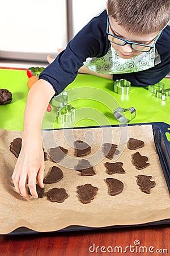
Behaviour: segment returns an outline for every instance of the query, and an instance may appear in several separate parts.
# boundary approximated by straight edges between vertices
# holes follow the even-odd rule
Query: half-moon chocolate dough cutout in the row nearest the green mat
[[[84,141],[74,141],[75,156],[82,157],[91,153],[91,147]]]

